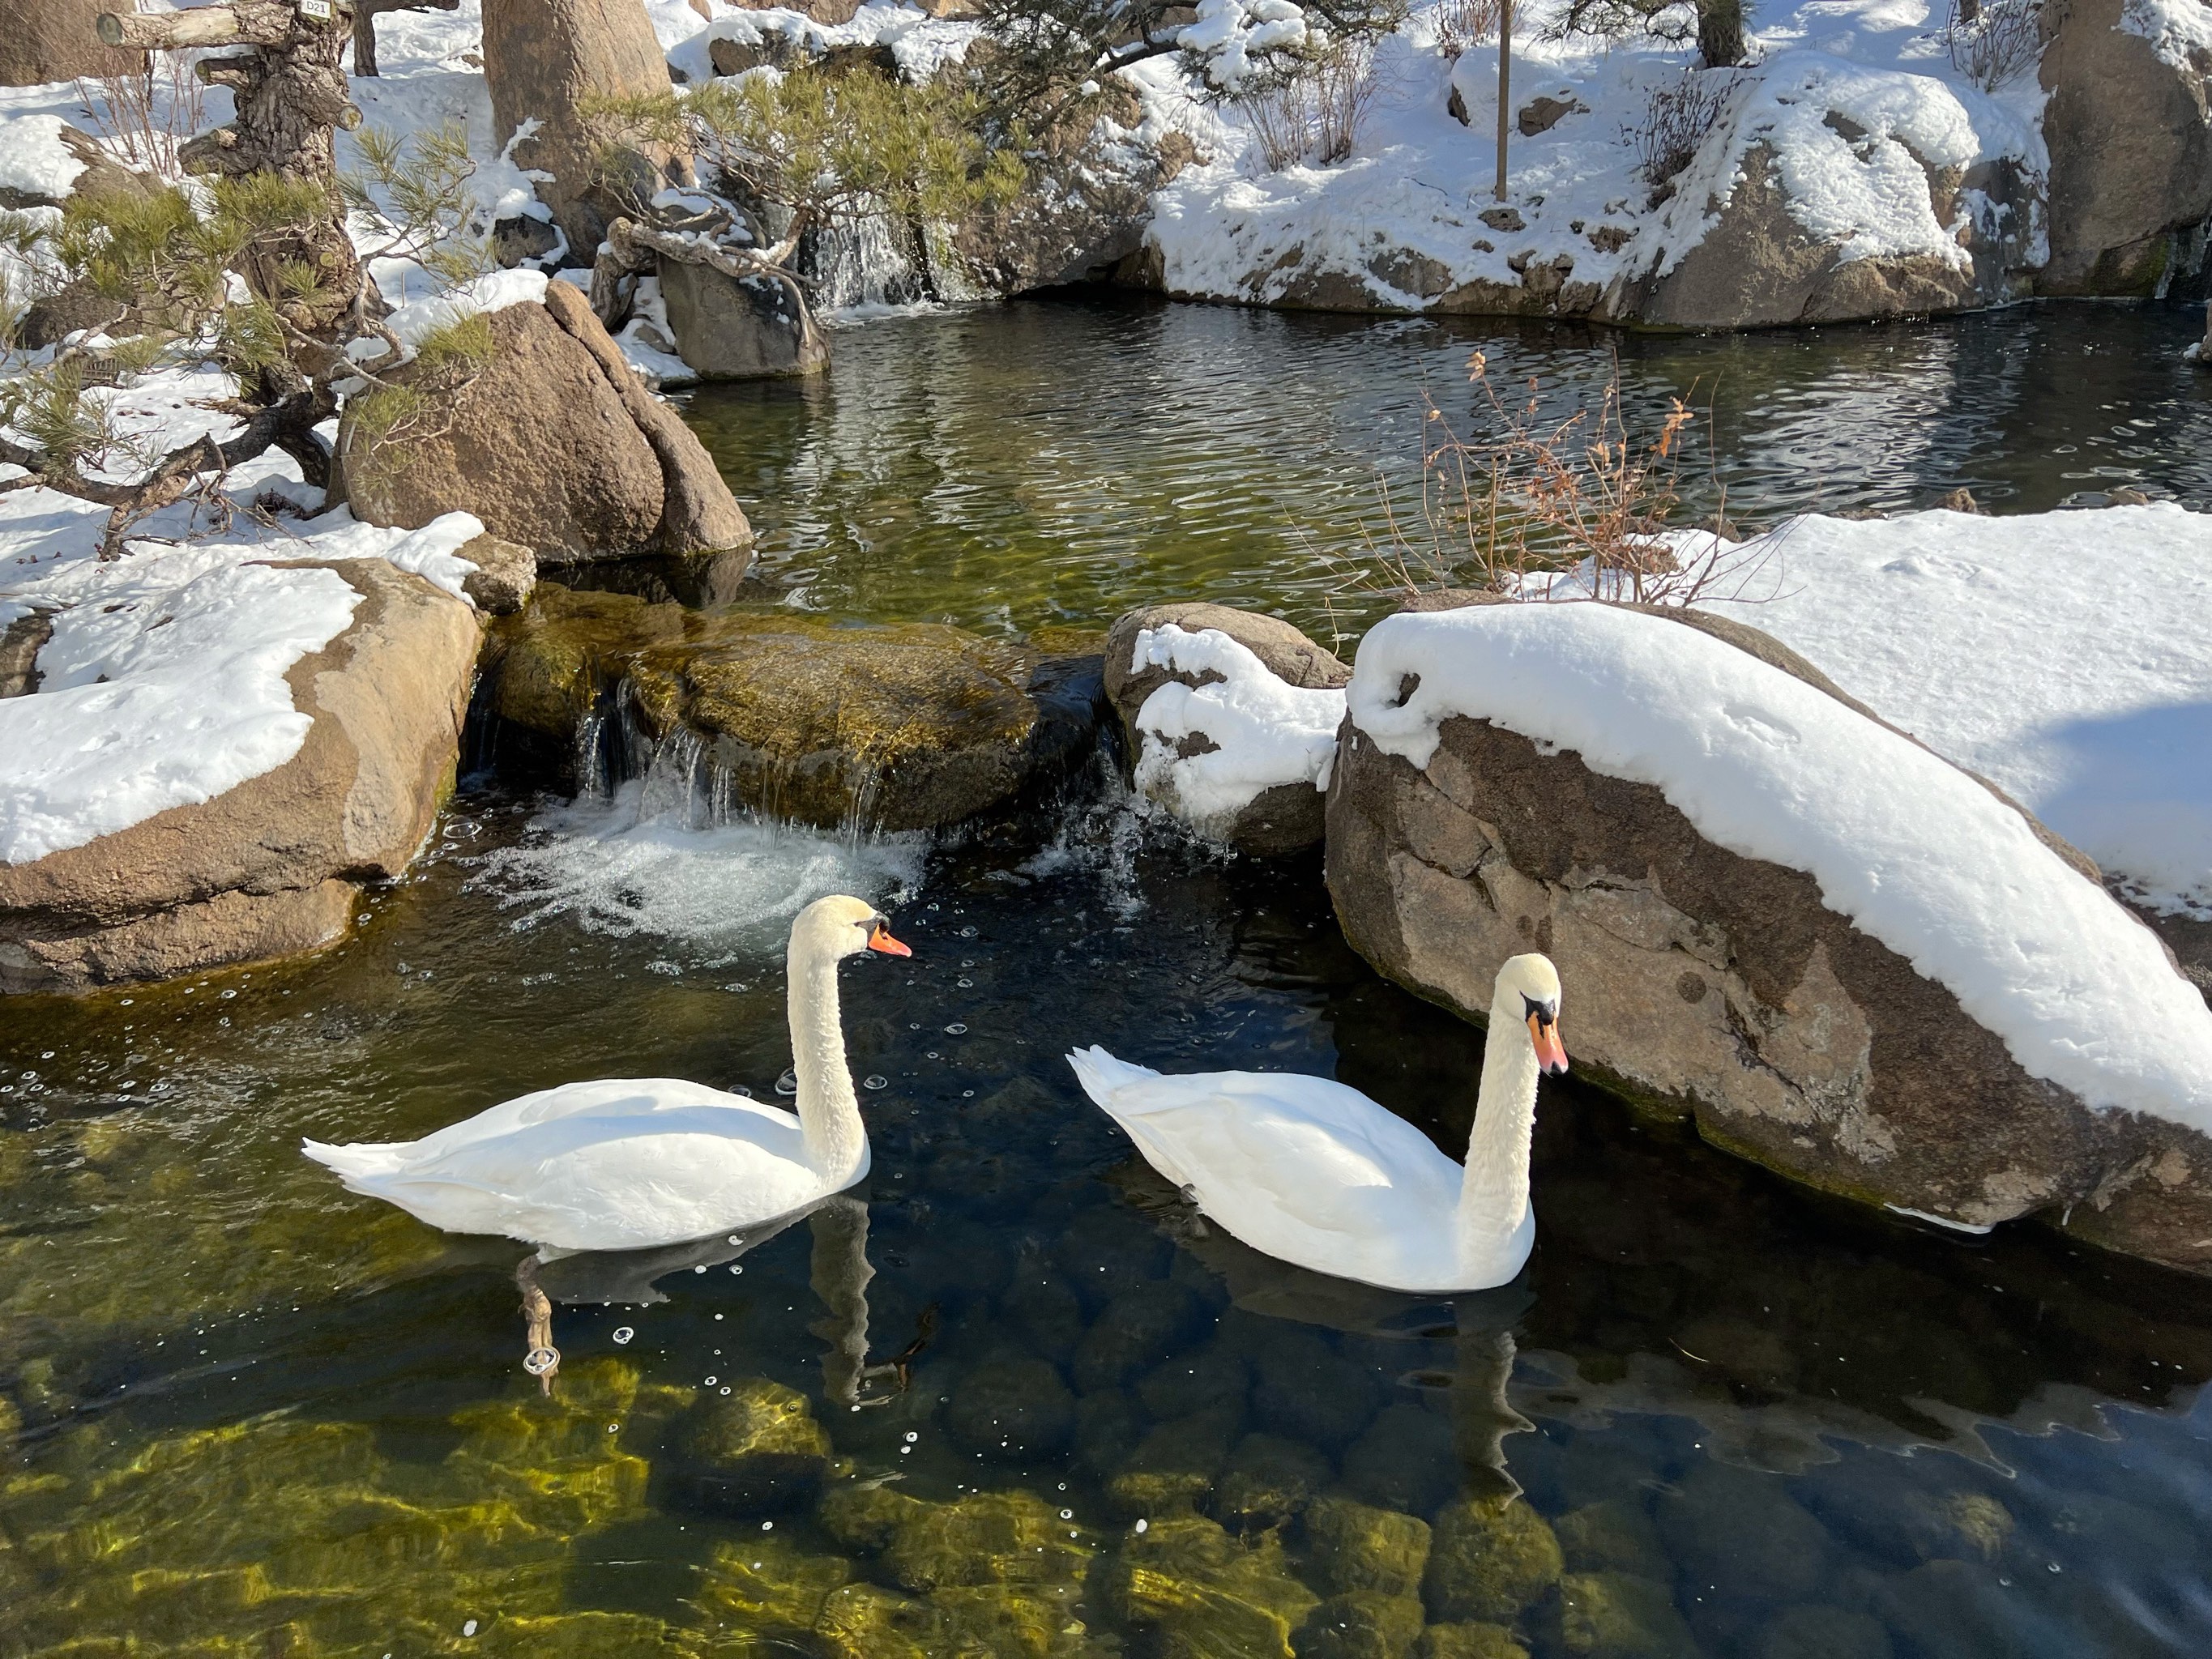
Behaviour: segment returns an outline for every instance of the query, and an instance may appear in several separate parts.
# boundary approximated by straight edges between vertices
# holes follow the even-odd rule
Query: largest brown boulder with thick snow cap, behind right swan
[[[1548,951],[1577,1062],[1725,1148],[2212,1267],[2203,998],[2081,854],[1756,630],[1385,619],[1327,872],[1354,947],[1462,1013]]]

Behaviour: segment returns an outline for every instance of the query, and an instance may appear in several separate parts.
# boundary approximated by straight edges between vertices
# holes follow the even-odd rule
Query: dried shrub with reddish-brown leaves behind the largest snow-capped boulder
[[[1670,398],[1657,427],[1637,434],[1624,414],[1619,361],[1597,407],[1564,420],[1542,416],[1533,376],[1524,400],[1500,396],[1482,352],[1467,361],[1467,378],[1489,403],[1486,429],[1464,438],[1429,400],[1420,526],[1409,529],[1385,495],[1385,538],[1367,538],[1369,573],[1378,568],[1389,588],[1670,606],[1770,597],[1754,588],[1776,542],[1723,540],[1732,533],[1728,491],[1710,442],[1719,509],[1705,526],[1683,520],[1688,434],[1703,420],[1710,436],[1710,405]]]

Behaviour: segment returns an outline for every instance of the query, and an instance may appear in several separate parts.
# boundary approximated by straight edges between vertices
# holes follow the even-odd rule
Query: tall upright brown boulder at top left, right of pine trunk
[[[522,122],[538,131],[515,161],[553,175],[538,197],[568,234],[568,263],[588,265],[617,204],[595,184],[599,144],[584,122],[588,97],[666,93],[668,60],[637,0],[484,0],[484,82],[493,142]],[[641,195],[690,177],[690,157],[653,146],[635,157]]]

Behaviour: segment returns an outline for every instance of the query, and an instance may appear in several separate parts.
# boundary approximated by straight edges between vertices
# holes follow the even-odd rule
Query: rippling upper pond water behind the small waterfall
[[[1473,431],[1467,356],[1546,418],[1615,354],[1630,420],[1714,407],[1686,502],[1991,511],[2117,487],[2212,502],[2201,307],[2026,305],[1940,327],[1736,336],[1024,303],[834,334],[814,385],[703,387],[688,418],[807,604],[984,630],[1095,626],[1135,597],[1263,604],[1327,641],[1380,613],[1378,484],[1418,502],[1422,394]],[[1703,442],[1703,440],[1701,440]],[[1701,445],[1699,445],[1701,447]],[[1710,471],[1710,476],[1708,476]]]

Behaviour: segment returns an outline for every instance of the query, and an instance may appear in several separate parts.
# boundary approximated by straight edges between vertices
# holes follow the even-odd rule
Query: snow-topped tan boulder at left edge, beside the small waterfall
[[[418,551],[445,573],[451,544]],[[431,580],[215,560],[113,593],[53,615],[35,695],[0,703],[0,991],[323,945],[453,779],[478,622]]]

